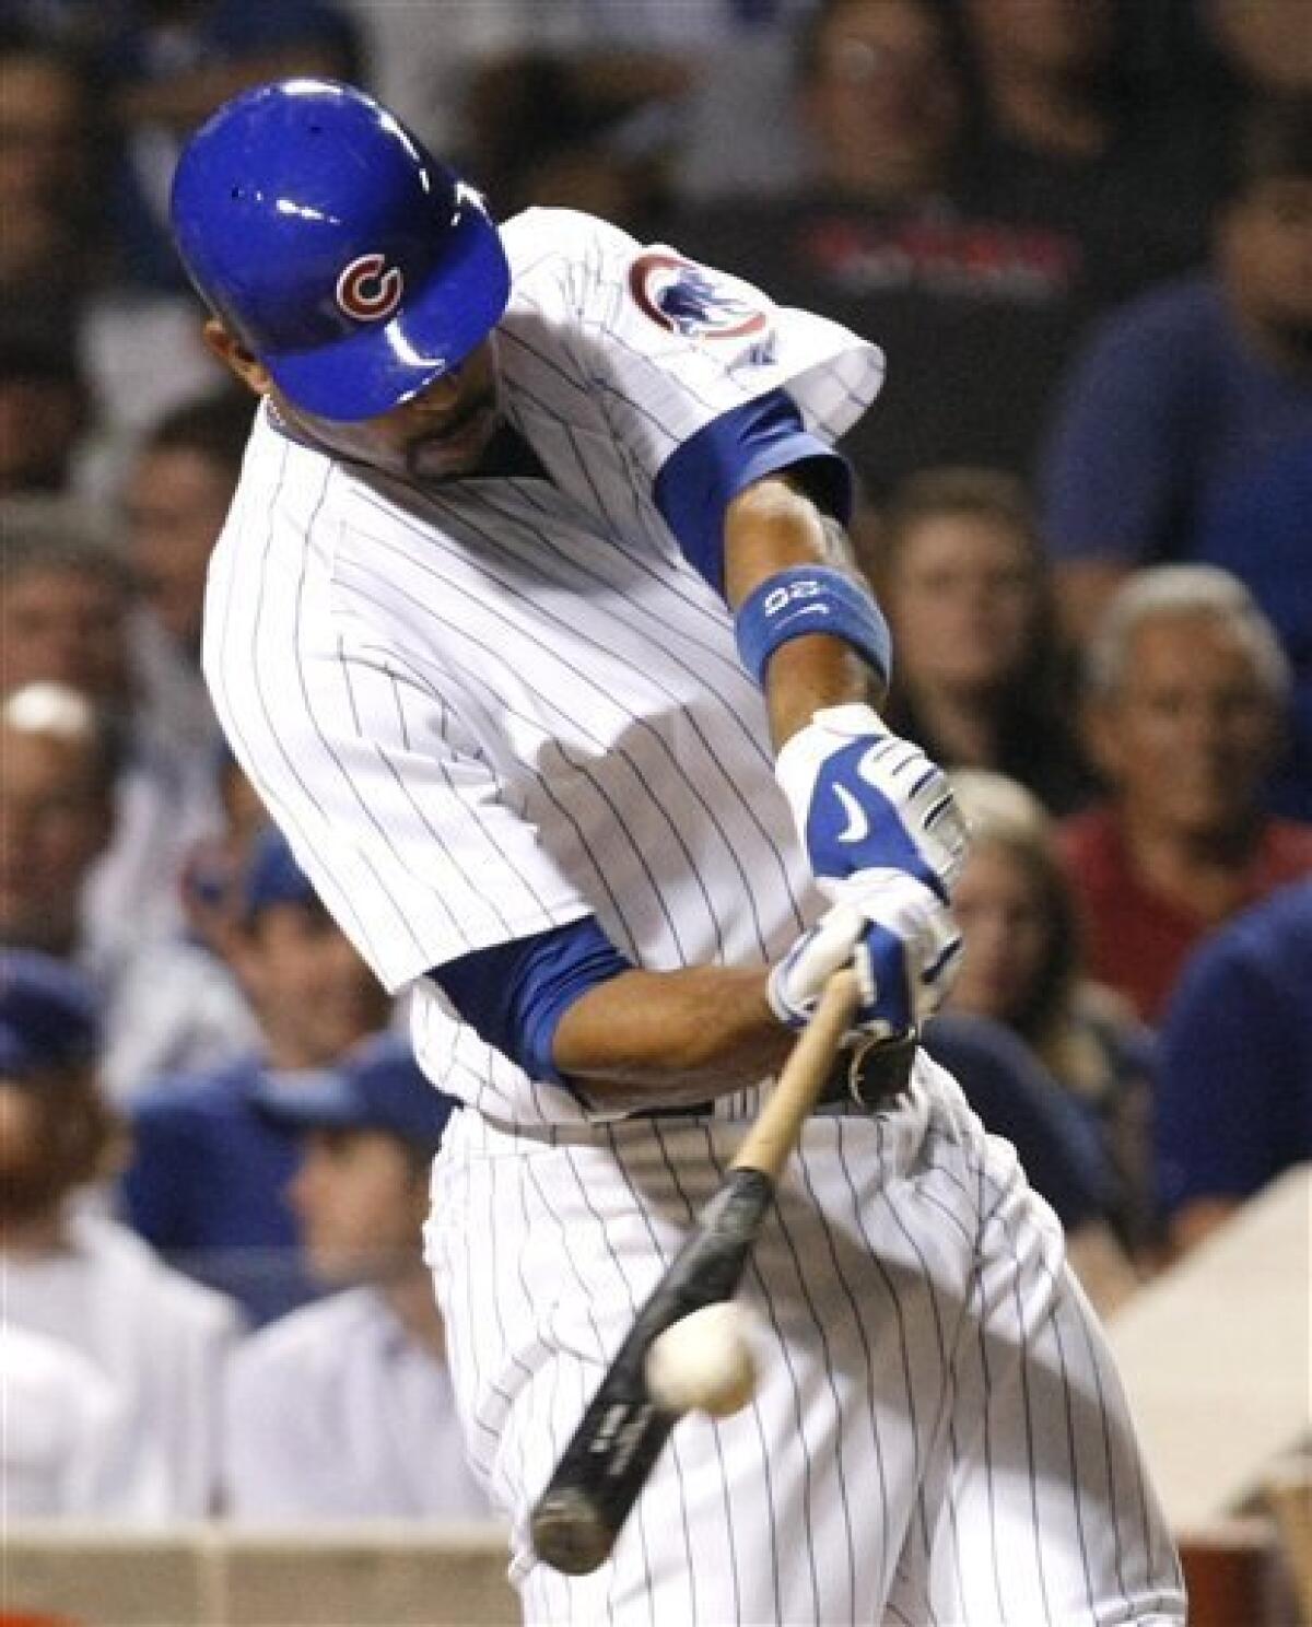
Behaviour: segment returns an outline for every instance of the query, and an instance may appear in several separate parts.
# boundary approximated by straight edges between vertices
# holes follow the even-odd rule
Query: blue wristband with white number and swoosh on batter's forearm
[[[757,683],[765,682],[780,644],[811,633],[842,638],[889,682],[894,664],[889,623],[869,592],[832,565],[793,565],[767,576],[734,617],[737,652]]]

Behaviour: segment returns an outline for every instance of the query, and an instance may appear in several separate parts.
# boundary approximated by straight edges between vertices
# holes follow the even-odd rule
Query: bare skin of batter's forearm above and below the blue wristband
[[[757,482],[729,504],[724,591],[731,608],[780,571],[807,565],[851,569],[851,556],[837,522],[786,477]],[[884,685],[871,664],[848,641],[829,635],[789,639],[770,656],[765,672],[776,750],[825,706],[877,706],[882,698]]]

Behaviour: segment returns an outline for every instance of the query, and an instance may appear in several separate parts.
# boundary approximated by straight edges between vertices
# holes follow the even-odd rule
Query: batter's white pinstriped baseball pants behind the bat
[[[531,1495],[736,1139],[711,1119],[526,1137],[464,1114],[440,1155],[430,1261],[477,1468],[516,1511],[527,1619],[1183,1620],[1056,1220],[929,1062],[905,1108],[807,1128],[742,1290],[765,1328],[752,1406],[679,1425],[602,1570],[532,1562]]]

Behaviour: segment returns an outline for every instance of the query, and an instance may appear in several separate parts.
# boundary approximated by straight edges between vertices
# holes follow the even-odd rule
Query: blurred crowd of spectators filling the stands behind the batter
[[[225,750],[254,400],[168,189],[291,73],[505,218],[874,338],[890,724],[975,831],[928,1048],[1115,1308],[1312,1158],[1305,0],[3,0],[10,1516],[483,1516],[423,1266],[453,1105]]]

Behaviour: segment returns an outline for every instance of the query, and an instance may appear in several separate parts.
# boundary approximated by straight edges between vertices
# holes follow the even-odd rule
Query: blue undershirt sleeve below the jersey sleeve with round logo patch
[[[754,480],[791,469],[811,496],[843,524],[851,519],[851,469],[803,423],[785,390],[721,413],[666,459],[654,498],[684,556],[724,592],[724,511]]]

